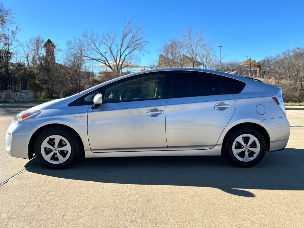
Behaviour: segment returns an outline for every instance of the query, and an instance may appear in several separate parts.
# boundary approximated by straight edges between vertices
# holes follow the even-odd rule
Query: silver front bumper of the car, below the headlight
[[[12,157],[28,158],[29,140],[36,127],[21,120],[11,123],[5,135],[5,150]]]

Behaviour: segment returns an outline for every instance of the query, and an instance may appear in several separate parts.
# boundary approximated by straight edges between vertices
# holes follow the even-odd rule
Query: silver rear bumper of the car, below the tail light
[[[270,139],[269,151],[285,148],[290,134],[290,125],[286,116],[274,119],[264,119],[261,123]]]

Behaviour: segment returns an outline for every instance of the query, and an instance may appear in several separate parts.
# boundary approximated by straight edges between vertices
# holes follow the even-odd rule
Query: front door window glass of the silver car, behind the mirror
[[[109,86],[104,103],[164,98],[164,74],[146,75]]]

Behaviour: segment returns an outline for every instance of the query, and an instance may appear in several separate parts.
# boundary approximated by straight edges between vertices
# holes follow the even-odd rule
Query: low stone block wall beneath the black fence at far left
[[[1,102],[30,102],[34,100],[34,92],[31,90],[0,90]]]

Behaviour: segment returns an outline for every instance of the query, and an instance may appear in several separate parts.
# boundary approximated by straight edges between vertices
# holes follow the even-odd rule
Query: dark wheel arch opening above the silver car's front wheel
[[[60,123],[51,123],[51,124],[47,124],[47,125],[43,125],[40,128],[38,128],[33,135],[31,136],[30,140],[29,140],[29,145],[28,145],[28,155],[29,155],[29,159],[35,157],[34,156],[34,144],[35,144],[35,140],[37,138],[37,136],[45,129],[49,128],[49,127],[64,127],[70,131],[72,131],[73,133],[75,133],[76,136],[78,136],[79,142],[81,143],[81,151],[82,153],[84,153],[84,145],[82,142],[82,139],[80,137],[80,135],[70,126],[64,125],[64,124],[60,124]]]

